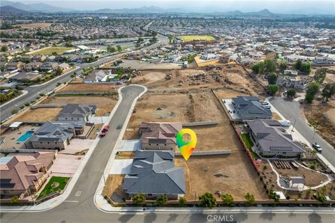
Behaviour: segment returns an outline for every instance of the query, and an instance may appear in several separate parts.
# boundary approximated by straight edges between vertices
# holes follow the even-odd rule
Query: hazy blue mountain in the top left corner
[[[45,3],[32,3],[32,4],[24,4],[21,2],[13,2],[13,1],[6,1],[1,0],[0,1],[1,6],[12,6],[14,8],[20,9],[20,10],[26,10],[30,12],[70,12],[75,11],[71,8],[61,8],[56,6],[50,6]]]

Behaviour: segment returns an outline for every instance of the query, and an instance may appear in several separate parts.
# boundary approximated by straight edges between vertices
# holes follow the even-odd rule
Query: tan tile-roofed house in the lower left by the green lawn
[[[36,192],[47,178],[57,153],[36,152],[0,158],[0,194],[12,197]]]

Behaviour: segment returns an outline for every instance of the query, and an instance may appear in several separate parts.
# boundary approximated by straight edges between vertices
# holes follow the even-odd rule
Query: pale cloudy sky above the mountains
[[[15,1],[15,0],[12,0]],[[19,0],[22,3],[43,2],[52,6],[73,8],[76,10],[96,10],[101,8],[140,8],[158,6],[161,8],[183,8],[188,12],[209,13],[241,10],[242,12],[258,11],[267,8],[273,13],[306,13],[335,14],[335,0],[156,0],[156,1],[122,1],[122,0],[56,0],[31,1]]]

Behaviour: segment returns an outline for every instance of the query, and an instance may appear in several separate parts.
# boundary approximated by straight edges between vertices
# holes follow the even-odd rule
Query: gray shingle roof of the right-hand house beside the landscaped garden
[[[256,136],[262,151],[288,151],[294,153],[304,152],[304,146],[292,141],[292,135],[281,128],[281,124],[274,120],[247,121],[251,131]]]

